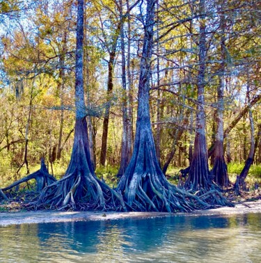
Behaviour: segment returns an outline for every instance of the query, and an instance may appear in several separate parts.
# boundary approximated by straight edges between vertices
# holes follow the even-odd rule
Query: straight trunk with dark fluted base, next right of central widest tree
[[[198,109],[196,113],[196,136],[189,177],[185,183],[187,189],[208,189],[209,168],[207,162],[207,143],[205,138],[205,64],[206,64],[206,26],[205,0],[200,0],[200,33],[199,33],[199,71],[198,71]]]

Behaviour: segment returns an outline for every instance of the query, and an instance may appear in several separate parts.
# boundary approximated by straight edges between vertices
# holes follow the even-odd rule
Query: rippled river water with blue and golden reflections
[[[261,214],[0,227],[0,262],[261,262]]]

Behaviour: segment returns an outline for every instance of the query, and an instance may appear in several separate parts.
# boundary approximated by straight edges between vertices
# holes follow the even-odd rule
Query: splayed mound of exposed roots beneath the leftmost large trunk
[[[120,193],[111,189],[95,175],[75,171],[47,186],[36,207],[49,209],[102,209],[127,211]]]

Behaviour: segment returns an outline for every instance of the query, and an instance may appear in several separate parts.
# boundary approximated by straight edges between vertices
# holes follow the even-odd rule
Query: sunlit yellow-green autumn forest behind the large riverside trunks
[[[171,177],[189,166],[193,152],[199,7],[199,1],[158,1],[155,14],[150,114],[157,158]],[[124,170],[122,138],[132,154],[143,9],[143,1],[86,1],[84,88],[90,150],[97,175],[114,185]],[[248,175],[260,182],[260,14],[256,1],[205,1],[209,164],[214,166],[221,109],[223,152],[232,181],[231,175],[241,173],[250,158]],[[0,1],[0,187],[38,170],[42,157],[57,178],[68,167],[76,15],[74,1]]]

